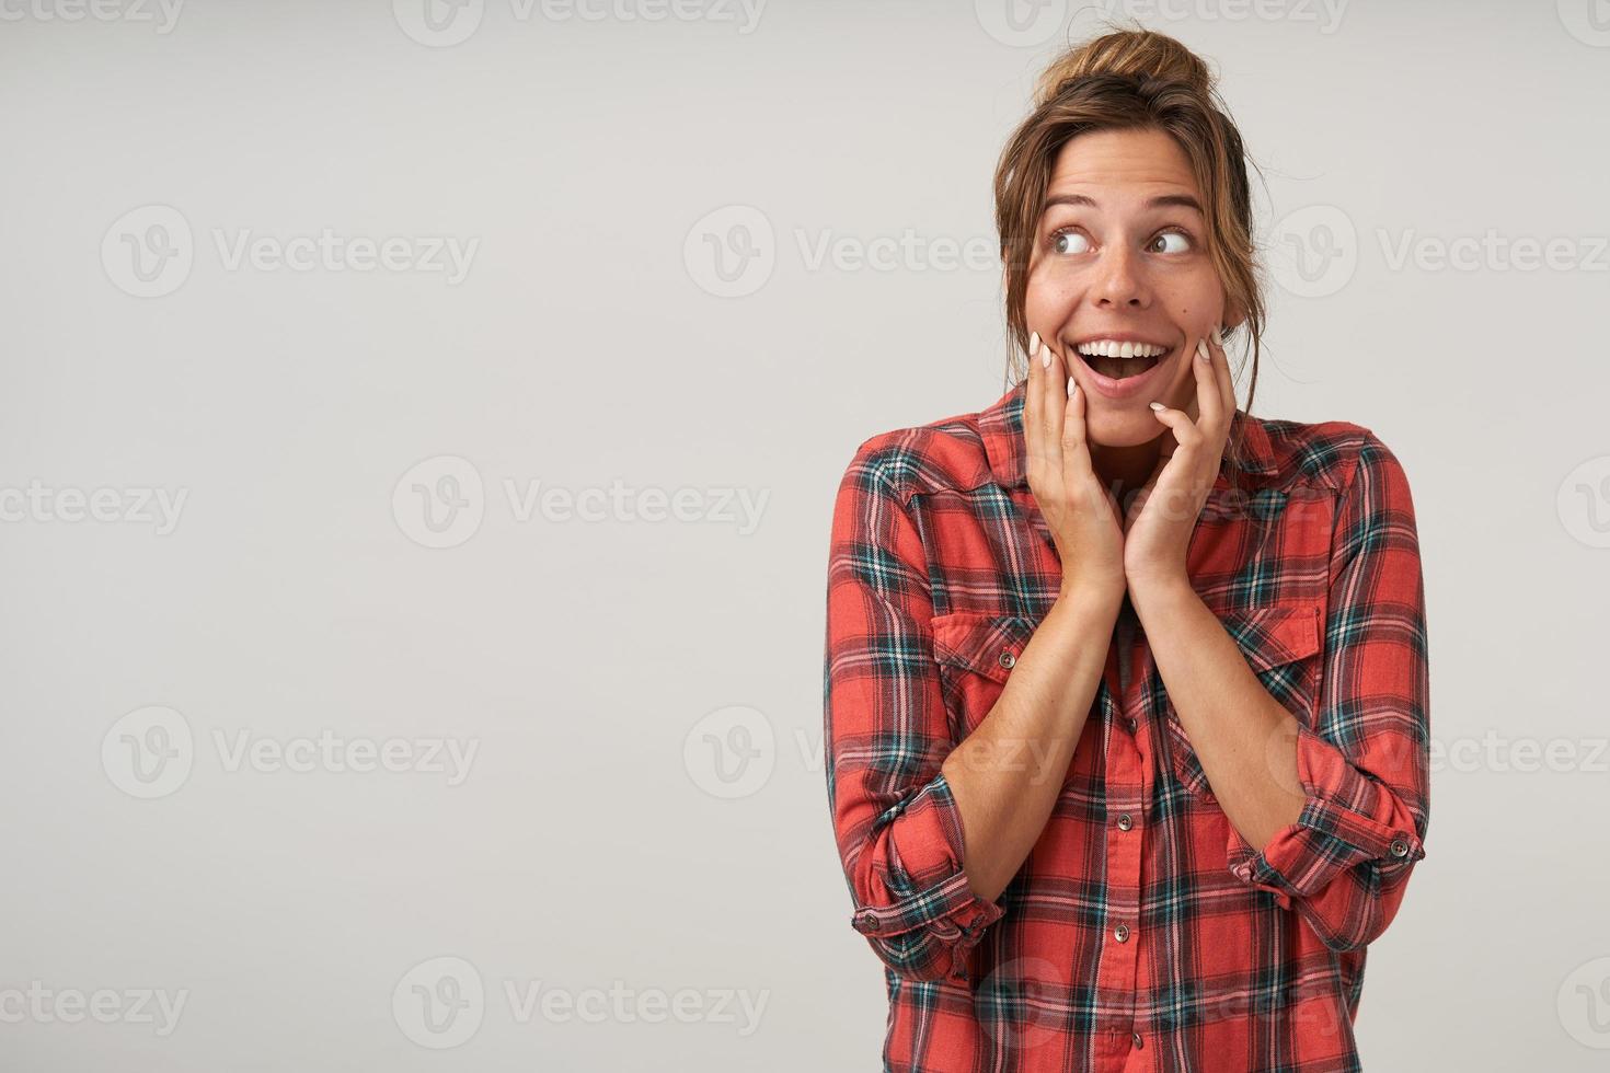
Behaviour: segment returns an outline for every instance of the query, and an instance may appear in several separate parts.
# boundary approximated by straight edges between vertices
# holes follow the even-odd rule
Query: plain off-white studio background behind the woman
[[[1109,10],[1212,60],[1264,169],[1253,412],[1372,428],[1414,487],[1454,759],[1365,1067],[1602,1068],[1610,11]],[[1005,389],[990,177],[1100,27],[676,11],[0,2],[5,1068],[877,1067],[819,763],[832,492]],[[448,976],[457,1034],[409,1013]]]

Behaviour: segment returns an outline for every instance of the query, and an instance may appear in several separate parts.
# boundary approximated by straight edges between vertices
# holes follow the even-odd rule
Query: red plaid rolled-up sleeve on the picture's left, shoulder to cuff
[[[900,491],[895,434],[861,444],[839,484],[828,565],[823,751],[852,927],[895,973],[966,980],[1005,909],[963,872],[953,748],[934,661],[927,557]]]

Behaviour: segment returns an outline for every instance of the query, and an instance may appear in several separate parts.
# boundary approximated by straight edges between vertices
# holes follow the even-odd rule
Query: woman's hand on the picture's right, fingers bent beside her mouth
[[[1151,478],[1124,516],[1124,578],[1137,584],[1188,582],[1185,553],[1212,491],[1235,413],[1230,360],[1211,336],[1191,356],[1196,396],[1185,410],[1153,404],[1167,425]],[[1206,356],[1206,357],[1204,357]]]

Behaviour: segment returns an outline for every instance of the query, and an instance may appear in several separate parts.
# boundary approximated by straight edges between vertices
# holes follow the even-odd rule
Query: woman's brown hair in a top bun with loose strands
[[[1090,130],[1158,129],[1185,151],[1206,199],[1208,254],[1225,291],[1225,309],[1240,310],[1253,380],[1264,335],[1264,299],[1253,248],[1253,204],[1241,134],[1214,88],[1208,64],[1166,34],[1117,31],[1075,45],[1040,76],[1034,111],[1018,125],[995,167],[995,227],[1006,269],[1006,327],[1013,341],[1008,376],[1027,375],[1024,298],[1040,211],[1063,145]]]

